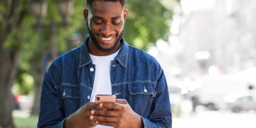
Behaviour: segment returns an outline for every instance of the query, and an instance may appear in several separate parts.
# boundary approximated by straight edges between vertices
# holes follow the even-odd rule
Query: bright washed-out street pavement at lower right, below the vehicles
[[[230,111],[200,110],[195,114],[181,114],[173,118],[173,128],[255,128],[256,111],[233,113]]]

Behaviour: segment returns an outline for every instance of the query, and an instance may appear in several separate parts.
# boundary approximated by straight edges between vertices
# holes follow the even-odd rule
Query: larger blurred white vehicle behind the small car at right
[[[198,79],[198,102],[209,110],[222,110],[226,105],[223,98],[233,92],[247,90],[248,81],[240,80],[234,75],[206,75]]]

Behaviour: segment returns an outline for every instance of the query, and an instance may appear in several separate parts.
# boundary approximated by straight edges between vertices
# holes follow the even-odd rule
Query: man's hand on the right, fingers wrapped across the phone
[[[112,127],[142,127],[142,118],[132,110],[126,100],[115,103],[100,103],[92,110],[92,121]]]

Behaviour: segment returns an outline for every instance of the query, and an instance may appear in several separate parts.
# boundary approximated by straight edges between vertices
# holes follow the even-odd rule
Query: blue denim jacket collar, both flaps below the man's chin
[[[85,38],[85,40],[82,42],[82,45],[80,46],[79,68],[92,63],[92,59],[90,58],[90,54],[86,45],[88,41],[89,36]],[[129,45],[124,41],[124,38],[121,38],[121,43],[122,47],[114,59],[117,60],[120,65],[127,67]]]

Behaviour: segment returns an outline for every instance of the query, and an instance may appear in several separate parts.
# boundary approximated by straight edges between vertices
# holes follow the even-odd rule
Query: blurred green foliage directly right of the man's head
[[[159,1],[127,1],[128,19],[124,38],[128,43],[139,48],[146,48],[148,43],[155,43],[157,39],[167,39],[169,25],[164,17],[164,12],[172,14],[171,9],[166,9]]]

